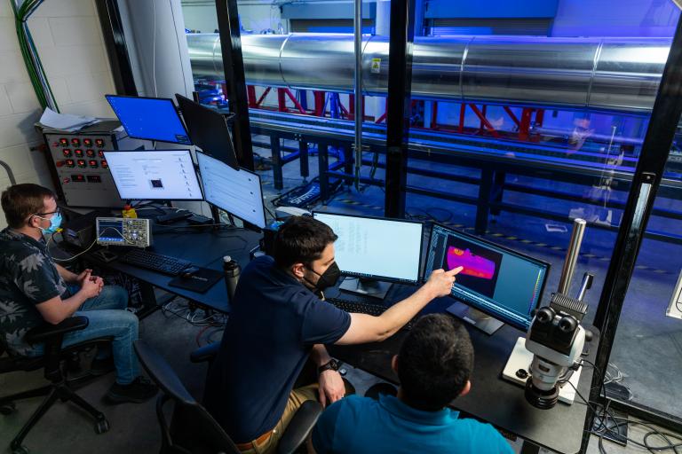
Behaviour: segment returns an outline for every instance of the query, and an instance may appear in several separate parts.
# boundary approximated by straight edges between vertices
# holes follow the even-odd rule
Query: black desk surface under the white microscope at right
[[[394,285],[386,300],[398,301],[412,291],[414,288]],[[353,298],[350,294],[343,294],[343,297]],[[442,312],[452,302],[449,297],[440,298],[432,301],[424,312]],[[580,397],[576,396],[573,405],[557,403],[551,410],[538,410],[526,402],[522,387],[502,378],[504,364],[523,333],[504,325],[500,331],[488,336],[471,325],[464,325],[471,335],[475,352],[472,391],[453,401],[451,406],[550,450],[562,453],[580,451],[588,411]],[[400,331],[383,342],[328,346],[329,354],[383,380],[398,383],[398,376],[391,369],[391,357],[398,353],[406,335],[406,332]],[[599,338],[595,335],[595,339],[588,344],[590,355],[587,359],[592,362],[598,342]],[[590,395],[592,372],[589,365],[583,367],[581,372],[578,390],[585,398]]]

